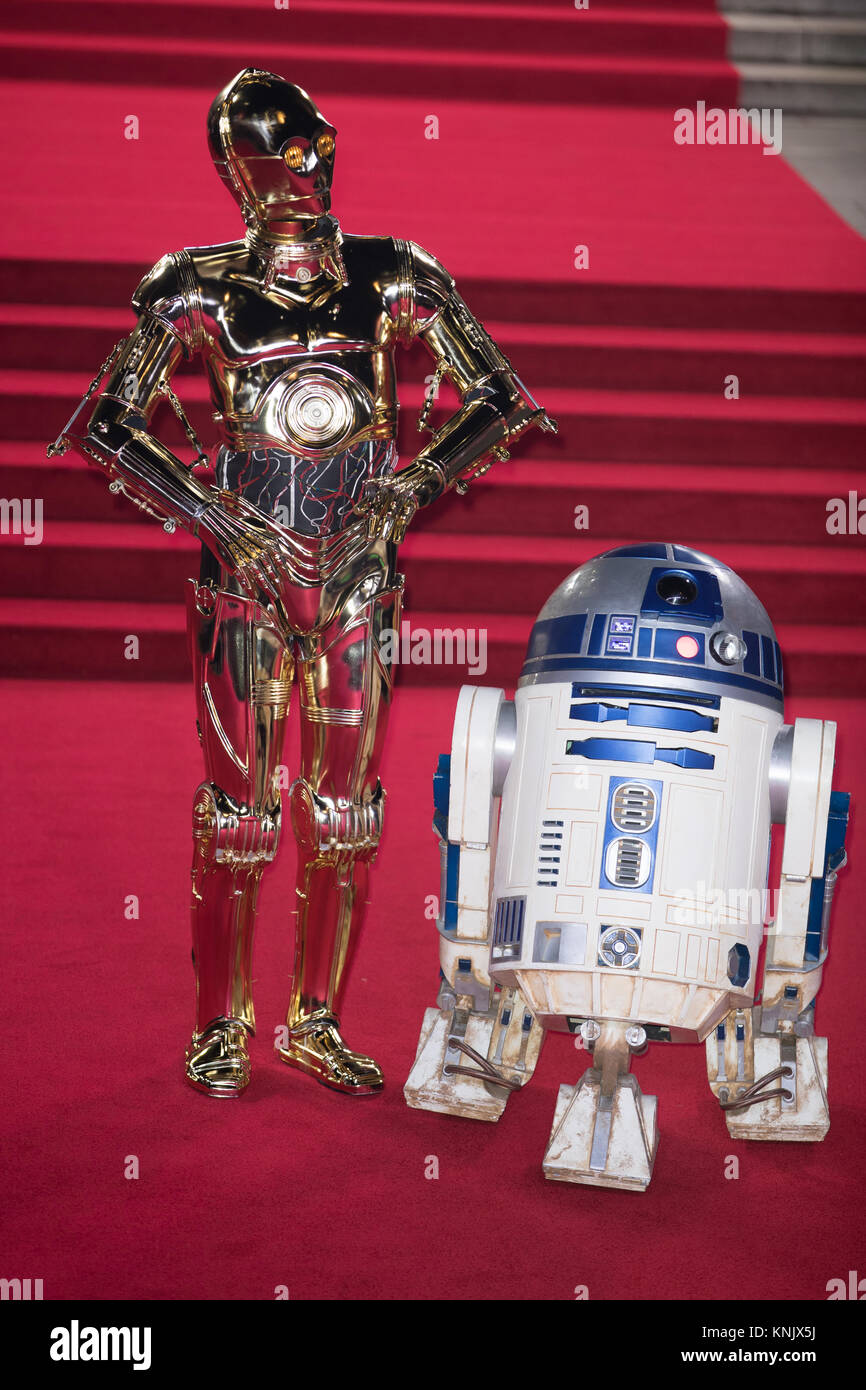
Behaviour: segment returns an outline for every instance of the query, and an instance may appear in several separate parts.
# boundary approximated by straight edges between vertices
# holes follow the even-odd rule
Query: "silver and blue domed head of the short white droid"
[[[781,710],[781,652],[766,609],[727,564],[684,545],[626,545],[588,560],[542,607],[520,685],[740,698]]]

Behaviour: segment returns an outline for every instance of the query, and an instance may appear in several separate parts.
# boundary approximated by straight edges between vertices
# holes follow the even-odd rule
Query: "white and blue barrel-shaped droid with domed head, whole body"
[[[706,1040],[733,1136],[823,1138],[815,997],[848,819],[834,744],[833,723],[784,723],[773,626],[726,564],[646,543],[570,574],[514,699],[460,691],[434,784],[442,984],[409,1104],[495,1120],[544,1031],[567,1030],[591,1066],[559,1090],[544,1172],[639,1191],[656,1098],[631,1055]]]

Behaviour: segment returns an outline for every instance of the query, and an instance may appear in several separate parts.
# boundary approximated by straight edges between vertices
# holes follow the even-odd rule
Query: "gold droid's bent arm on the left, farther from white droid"
[[[76,449],[111,478],[142,512],[160,520],[167,531],[178,525],[203,541],[253,596],[275,592],[271,573],[268,518],[232,493],[202,481],[152,432],[150,420],[168,398],[189,438],[195,434],[171,389],[171,377],[200,345],[193,293],[182,282],[186,257],[165,256],[136,289],[132,306],[139,318],[90,384],[81,406],[49,446],[49,455]],[[106,375],[107,374],[107,375]],[[86,428],[78,416],[99,391]],[[204,456],[200,455],[200,459]]]

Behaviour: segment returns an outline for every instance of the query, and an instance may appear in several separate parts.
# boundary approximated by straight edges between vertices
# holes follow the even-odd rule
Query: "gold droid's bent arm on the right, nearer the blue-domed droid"
[[[466,492],[507,445],[531,425],[556,431],[493,339],[470,313],[443,265],[414,242],[398,242],[399,334],[420,338],[436,363],[420,420],[424,428],[438,382],[448,377],[460,409],[435,431],[416,459],[391,477],[367,485],[357,510],[370,534],[402,541],[418,507],[449,488]]]

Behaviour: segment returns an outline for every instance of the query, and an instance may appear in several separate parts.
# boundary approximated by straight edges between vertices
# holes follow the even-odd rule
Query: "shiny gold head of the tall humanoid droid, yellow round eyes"
[[[336,129],[302,88],[245,68],[214,97],[207,140],[247,227],[278,231],[328,211]]]

